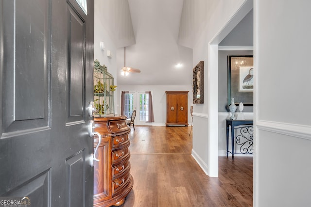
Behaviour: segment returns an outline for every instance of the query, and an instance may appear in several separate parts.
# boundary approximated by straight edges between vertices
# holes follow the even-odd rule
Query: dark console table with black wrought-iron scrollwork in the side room
[[[234,159],[234,154],[253,154],[253,120],[231,120],[226,119],[227,127],[227,157],[228,153],[232,154],[232,159]],[[229,151],[229,126],[231,126],[231,152]],[[241,126],[241,127],[238,127]],[[240,129],[240,134],[237,136],[236,130]],[[236,136],[235,136],[236,135]],[[234,142],[234,138],[236,141]],[[236,144],[234,152],[234,143]],[[241,145],[241,153],[237,153],[237,145]]]

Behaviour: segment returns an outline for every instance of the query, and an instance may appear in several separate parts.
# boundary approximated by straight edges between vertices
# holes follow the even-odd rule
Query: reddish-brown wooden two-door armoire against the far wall
[[[188,127],[188,92],[166,91],[166,126]]]

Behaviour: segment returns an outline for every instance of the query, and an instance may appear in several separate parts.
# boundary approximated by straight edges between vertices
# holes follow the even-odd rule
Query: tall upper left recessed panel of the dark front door
[[[49,127],[48,3],[33,5],[16,1],[14,4],[13,0],[2,3],[5,24],[1,22],[4,36],[1,54],[3,68],[10,68],[3,71],[1,81],[5,100],[2,137]]]

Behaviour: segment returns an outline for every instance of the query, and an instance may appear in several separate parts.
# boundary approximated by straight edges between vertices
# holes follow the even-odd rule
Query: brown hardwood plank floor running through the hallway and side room
[[[130,134],[133,190],[122,207],[251,207],[253,158],[219,157],[209,177],[191,156],[190,127],[140,127]]]

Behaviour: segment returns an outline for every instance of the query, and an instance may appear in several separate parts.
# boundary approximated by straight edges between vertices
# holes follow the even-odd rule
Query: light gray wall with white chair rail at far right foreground
[[[311,204],[310,8],[255,0],[256,207]]]

